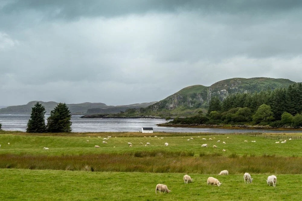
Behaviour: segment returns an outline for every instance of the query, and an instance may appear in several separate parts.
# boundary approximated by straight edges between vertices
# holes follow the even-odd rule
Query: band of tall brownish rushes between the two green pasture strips
[[[300,174],[301,157],[255,156],[232,157],[205,154],[201,157],[170,155],[169,152],[136,152],[134,154],[90,154],[90,155],[27,155],[2,154],[0,168],[32,170],[82,170],[112,172],[154,172],[154,173],[279,173]],[[236,156],[236,157],[234,157]]]

